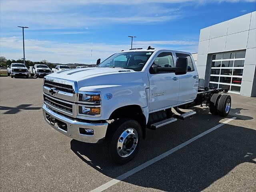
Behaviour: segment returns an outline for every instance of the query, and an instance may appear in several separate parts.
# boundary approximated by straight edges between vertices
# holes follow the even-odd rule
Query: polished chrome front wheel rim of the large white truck
[[[128,128],[122,132],[118,138],[116,150],[119,156],[130,156],[138,144],[138,133],[133,128]]]

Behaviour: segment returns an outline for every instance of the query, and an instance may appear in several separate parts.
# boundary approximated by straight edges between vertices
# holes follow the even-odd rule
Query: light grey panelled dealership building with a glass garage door
[[[256,12],[200,30],[193,54],[200,84],[256,96]]]

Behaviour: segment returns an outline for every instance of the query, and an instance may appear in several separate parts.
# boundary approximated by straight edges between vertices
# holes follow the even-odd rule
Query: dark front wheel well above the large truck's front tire
[[[115,120],[118,118],[130,118],[130,119],[137,121],[142,128],[143,138],[145,139],[145,137],[146,137],[146,117],[144,116],[140,106],[128,105],[128,106],[120,107],[120,108],[114,110],[114,112],[112,112],[109,119]]]

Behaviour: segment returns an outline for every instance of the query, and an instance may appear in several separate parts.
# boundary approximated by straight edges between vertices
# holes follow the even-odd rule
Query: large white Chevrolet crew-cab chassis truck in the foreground
[[[148,128],[196,114],[181,109],[205,105],[214,115],[228,115],[228,90],[198,87],[198,82],[190,53],[151,47],[122,51],[95,68],[45,76],[44,119],[75,140],[103,141],[106,157],[124,164],[137,154]]]

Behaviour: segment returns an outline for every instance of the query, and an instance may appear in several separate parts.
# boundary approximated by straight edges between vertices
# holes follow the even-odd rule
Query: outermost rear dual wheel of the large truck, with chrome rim
[[[230,95],[222,95],[218,101],[218,112],[220,116],[226,117],[231,109]]]

